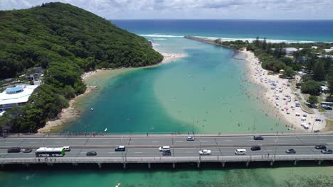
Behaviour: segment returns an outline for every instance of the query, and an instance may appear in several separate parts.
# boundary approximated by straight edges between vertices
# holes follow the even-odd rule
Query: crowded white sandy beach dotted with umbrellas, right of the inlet
[[[292,124],[286,127],[287,129],[312,132],[325,128],[324,115],[318,111],[310,114],[302,111],[302,108],[297,106],[297,98],[290,86],[288,86],[287,79],[281,79],[279,74],[268,74],[268,71],[261,67],[260,61],[253,52],[246,50],[242,52],[246,55],[246,65],[249,70],[248,76],[250,80],[262,86],[263,99],[268,101],[272,108],[270,112],[273,115],[280,113],[288,123]]]

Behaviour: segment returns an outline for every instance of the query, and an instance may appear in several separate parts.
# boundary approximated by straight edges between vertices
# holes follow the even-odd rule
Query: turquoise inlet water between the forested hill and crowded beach
[[[186,38],[156,40],[164,52],[188,56],[158,67],[104,77],[81,104],[68,130],[76,132],[276,132],[285,123],[265,115],[258,86],[242,55]],[[94,84],[94,83],[93,83]],[[94,108],[94,111],[90,111]]]

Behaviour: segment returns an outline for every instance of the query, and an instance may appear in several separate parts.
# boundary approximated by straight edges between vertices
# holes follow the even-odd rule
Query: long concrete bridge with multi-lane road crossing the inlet
[[[192,163],[200,167],[202,163],[240,162],[249,166],[252,162],[266,162],[273,166],[275,162],[313,161],[318,164],[332,162],[333,154],[322,154],[315,145],[326,145],[333,149],[333,135],[322,134],[263,134],[264,140],[253,140],[248,134],[200,134],[192,135],[194,141],[187,141],[188,134],[138,134],[138,135],[10,135],[0,139],[0,164],[176,164]],[[115,152],[115,147],[124,145],[125,152]],[[163,156],[159,147],[169,145],[171,156]],[[10,147],[37,149],[38,147],[70,146],[70,152],[64,157],[36,158],[31,153],[7,153]],[[250,147],[260,146],[258,151]],[[211,155],[199,155],[199,150],[209,149]],[[236,155],[235,149],[246,149],[246,155]],[[295,149],[295,154],[287,154],[286,149]],[[86,156],[87,152],[97,152],[95,157]]]

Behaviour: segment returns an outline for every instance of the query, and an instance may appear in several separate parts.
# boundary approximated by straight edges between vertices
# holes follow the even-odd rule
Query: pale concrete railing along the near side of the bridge
[[[208,157],[76,157],[76,158],[2,158],[0,164],[89,164],[89,163],[186,163],[186,162],[277,162],[277,161],[323,161],[333,160],[332,154]]]

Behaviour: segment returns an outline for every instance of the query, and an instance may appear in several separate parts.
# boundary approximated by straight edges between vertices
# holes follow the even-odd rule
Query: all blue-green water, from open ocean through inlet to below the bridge
[[[117,77],[80,99],[81,116],[65,131],[101,132],[281,132],[285,123],[260,100],[248,81],[244,57],[233,50],[183,38],[197,35],[279,41],[333,41],[333,21],[113,21],[162,52],[188,56]],[[173,98],[175,101],[173,101]],[[90,111],[94,108],[94,111]],[[244,164],[245,165],[245,164]],[[245,167],[245,166],[244,166]],[[163,170],[0,171],[1,186],[332,186],[333,167],[282,164],[274,168]]]

